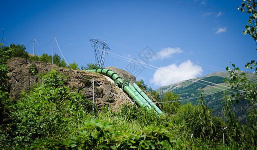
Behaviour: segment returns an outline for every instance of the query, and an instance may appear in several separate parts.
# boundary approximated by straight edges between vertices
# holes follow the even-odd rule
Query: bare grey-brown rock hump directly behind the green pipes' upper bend
[[[133,85],[133,82],[136,82],[136,77],[123,69],[114,66],[108,66],[106,69],[116,72],[122,79],[128,80],[131,85]]]

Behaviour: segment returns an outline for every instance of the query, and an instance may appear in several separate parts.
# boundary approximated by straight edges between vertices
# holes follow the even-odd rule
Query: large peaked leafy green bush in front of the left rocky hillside
[[[92,109],[85,96],[64,86],[65,76],[56,70],[41,75],[41,83],[12,107],[12,134],[15,142],[36,138],[64,138],[83,123]]]

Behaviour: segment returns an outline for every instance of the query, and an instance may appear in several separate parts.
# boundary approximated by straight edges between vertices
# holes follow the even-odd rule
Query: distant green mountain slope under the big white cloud
[[[244,73],[250,80],[257,78],[257,75],[253,73],[250,73],[247,71],[244,71]],[[171,91],[173,93],[179,94],[180,99],[193,98],[191,100],[185,100],[182,103],[192,102],[193,104],[197,104],[198,103],[197,100],[199,98],[194,98],[194,97],[200,96],[200,89],[202,90],[203,95],[207,95],[210,93],[227,89],[228,83],[224,81],[224,78],[225,77],[229,78],[229,76],[230,74],[227,71],[217,71],[202,77],[198,77],[197,79],[188,79],[188,80],[183,80],[171,85],[162,86],[156,89],[156,91],[160,93],[161,96],[165,92]],[[256,84],[257,82],[255,81],[253,83]],[[231,94],[232,93],[231,91],[232,91],[231,89],[226,90],[226,94]],[[224,92],[222,91],[219,93],[204,96],[204,99],[206,100],[205,104],[208,105],[213,110],[214,115],[223,116],[222,114],[223,103],[221,104],[223,93]],[[238,119],[241,120],[241,122],[244,122],[246,118],[245,113],[248,108],[248,102],[240,101],[240,103],[235,104],[234,107],[236,108],[235,113]]]

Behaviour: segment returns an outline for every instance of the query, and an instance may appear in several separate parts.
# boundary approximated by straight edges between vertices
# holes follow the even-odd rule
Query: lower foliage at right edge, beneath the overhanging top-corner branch
[[[232,69],[226,68],[230,73],[230,79],[229,83],[231,85],[231,89],[239,89],[243,91],[237,90],[236,93],[231,94],[230,97],[225,97],[225,106],[224,106],[224,112],[226,116],[227,123],[230,125],[228,128],[228,136],[230,141],[235,142],[239,145],[239,143],[242,144],[243,147],[246,148],[256,148],[257,145],[257,85],[251,84],[249,79],[245,76],[244,72],[240,72],[239,68],[235,66],[235,64],[231,64]],[[248,62],[246,65],[246,68],[255,69],[255,61]],[[256,71],[255,71],[255,74]],[[226,79],[228,80],[228,79]],[[231,112],[229,104],[238,103],[240,100],[246,100],[250,103],[250,107],[248,109],[248,115],[247,115],[247,126],[245,126],[244,132],[242,130],[238,129],[238,121],[237,118],[235,118],[234,113]],[[242,126],[241,126],[242,127]]]

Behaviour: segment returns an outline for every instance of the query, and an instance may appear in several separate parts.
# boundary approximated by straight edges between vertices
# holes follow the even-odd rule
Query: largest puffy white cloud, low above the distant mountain
[[[202,71],[201,66],[187,60],[178,66],[176,64],[162,66],[155,71],[150,82],[158,86],[169,85],[185,79],[197,77],[202,74]]]

